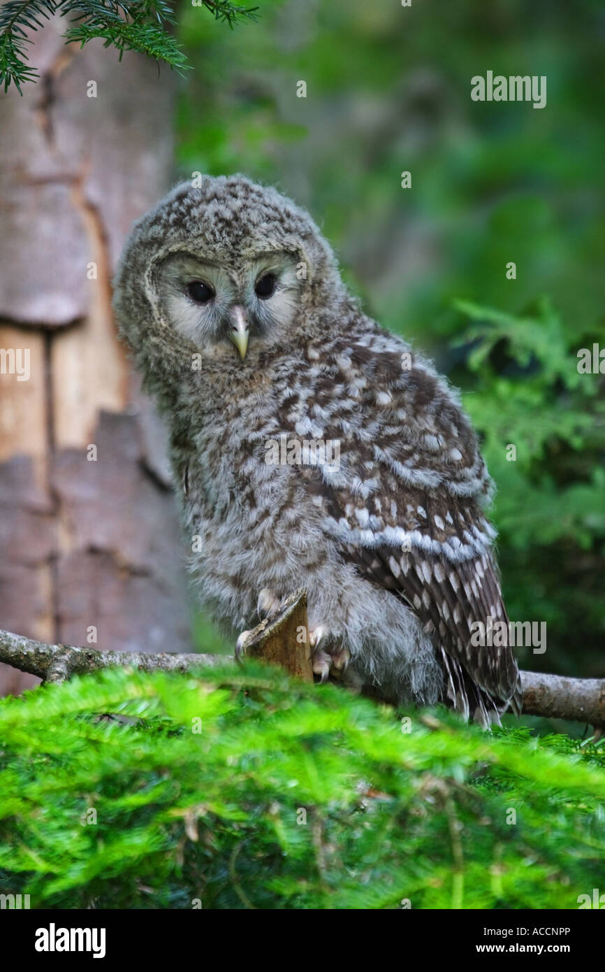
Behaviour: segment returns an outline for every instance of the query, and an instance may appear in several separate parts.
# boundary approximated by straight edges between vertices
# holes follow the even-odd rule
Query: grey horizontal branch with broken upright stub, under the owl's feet
[[[313,681],[307,592],[300,590],[290,595],[274,617],[261,621],[246,639],[245,651],[248,656],[280,665],[290,675]],[[52,682],[117,665],[143,672],[188,672],[234,660],[233,655],[98,651],[67,644],[44,644],[0,631],[0,662]],[[605,678],[521,672],[521,684],[523,714],[570,719],[605,728]]]

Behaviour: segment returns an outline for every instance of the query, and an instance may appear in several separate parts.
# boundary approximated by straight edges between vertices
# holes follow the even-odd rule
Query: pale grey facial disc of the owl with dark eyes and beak
[[[177,251],[155,274],[168,326],[215,358],[244,359],[249,343],[279,343],[295,325],[303,283],[296,256],[286,251],[228,262]]]

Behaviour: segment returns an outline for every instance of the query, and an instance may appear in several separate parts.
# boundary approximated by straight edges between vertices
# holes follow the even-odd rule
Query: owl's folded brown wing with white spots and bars
[[[519,712],[521,679],[491,552],[495,531],[482,510],[491,481],[454,393],[377,326],[324,346],[320,362],[292,431],[319,432],[339,445],[338,468],[303,475],[343,559],[418,616],[454,710],[483,724],[498,721],[507,705]],[[476,643],[474,622],[499,632],[496,643]]]

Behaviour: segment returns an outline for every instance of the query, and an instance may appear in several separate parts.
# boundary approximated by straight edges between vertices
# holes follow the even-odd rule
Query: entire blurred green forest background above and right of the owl
[[[365,310],[463,390],[509,614],[548,625],[521,667],[605,676],[605,375],[577,369],[605,348],[605,9],[283,0],[231,31],[180,21],[180,176],[243,171],[311,211]],[[473,102],[487,70],[546,75],[546,107]]]

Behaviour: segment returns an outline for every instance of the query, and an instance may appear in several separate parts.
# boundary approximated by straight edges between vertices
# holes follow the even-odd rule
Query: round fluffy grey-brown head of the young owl
[[[345,294],[304,210],[242,175],[201,177],[136,223],[115,280],[122,336],[144,369],[198,353],[208,364],[300,345]]]

